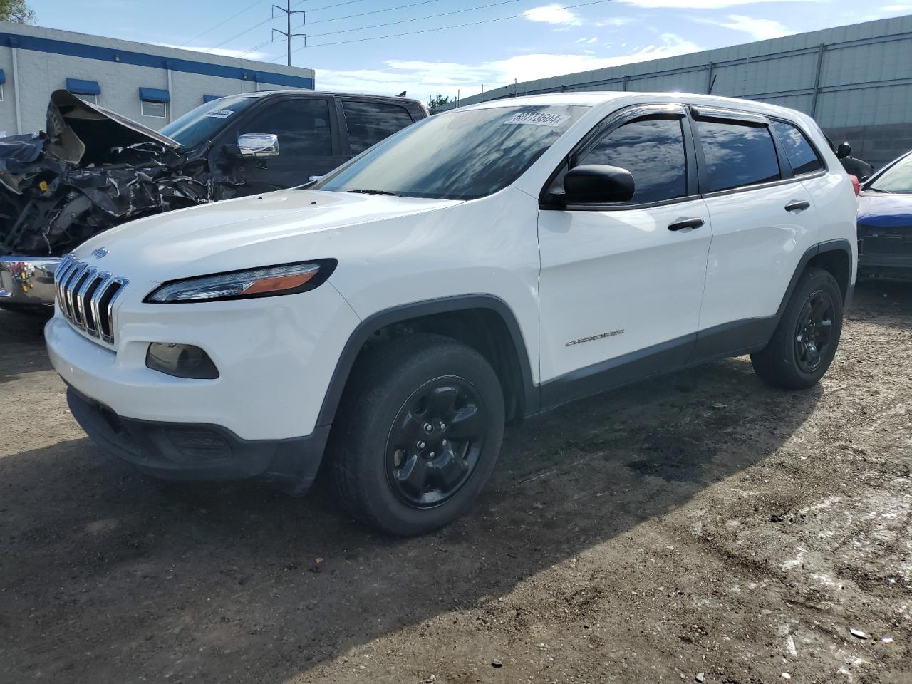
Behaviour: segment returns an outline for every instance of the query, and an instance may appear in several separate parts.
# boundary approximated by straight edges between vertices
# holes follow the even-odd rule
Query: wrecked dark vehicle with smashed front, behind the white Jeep
[[[57,90],[47,130],[0,139],[0,306],[52,305],[59,258],[119,223],[302,185],[427,116],[407,98],[269,91],[155,131]]]

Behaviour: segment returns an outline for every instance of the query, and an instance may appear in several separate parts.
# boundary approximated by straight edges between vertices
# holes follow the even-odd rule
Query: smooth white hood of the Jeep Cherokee
[[[131,280],[175,278],[334,258],[345,227],[433,212],[454,200],[283,190],[123,223],[82,244],[82,261]],[[378,226],[379,229],[379,226]],[[94,250],[108,254],[97,263]]]

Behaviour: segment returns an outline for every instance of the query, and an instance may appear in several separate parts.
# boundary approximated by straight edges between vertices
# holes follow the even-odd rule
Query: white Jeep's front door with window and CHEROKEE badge
[[[566,168],[630,171],[630,202],[539,212],[545,406],[683,365],[689,356],[712,233],[685,116],[678,106],[637,108],[570,155]],[[558,197],[562,178],[549,188]]]

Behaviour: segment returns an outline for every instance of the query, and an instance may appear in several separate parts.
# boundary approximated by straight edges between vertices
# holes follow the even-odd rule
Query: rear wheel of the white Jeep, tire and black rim
[[[833,363],[842,330],[839,285],[827,271],[809,269],[795,285],[769,344],[751,354],[753,369],[773,387],[812,387]]]

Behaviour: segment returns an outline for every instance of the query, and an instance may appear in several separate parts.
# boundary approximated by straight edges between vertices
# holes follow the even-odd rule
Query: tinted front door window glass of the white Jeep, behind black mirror
[[[663,202],[687,194],[687,156],[680,119],[641,119],[617,128],[576,161],[607,164],[633,175],[631,203]]]

